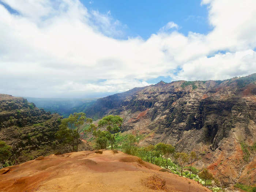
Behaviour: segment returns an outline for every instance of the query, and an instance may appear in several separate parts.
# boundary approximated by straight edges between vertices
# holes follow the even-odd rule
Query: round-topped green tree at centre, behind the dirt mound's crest
[[[120,126],[122,123],[123,123],[123,118],[119,117],[118,115],[105,116],[98,122],[98,128],[108,132],[108,134],[106,135],[106,138],[110,142],[111,150],[113,150],[113,146],[115,143],[115,138],[114,138],[115,133],[118,133],[120,131]]]

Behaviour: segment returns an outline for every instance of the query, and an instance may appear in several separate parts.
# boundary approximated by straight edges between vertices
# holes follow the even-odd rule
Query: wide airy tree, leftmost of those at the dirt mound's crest
[[[86,126],[92,127],[93,120],[86,118],[85,113],[70,114],[68,118],[61,121],[59,131],[56,137],[63,143],[68,143],[72,146],[73,151],[78,151],[78,144],[84,137]],[[91,129],[89,129],[91,131]]]

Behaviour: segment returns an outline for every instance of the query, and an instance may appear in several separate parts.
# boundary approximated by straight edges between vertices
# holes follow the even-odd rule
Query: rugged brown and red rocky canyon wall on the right
[[[200,153],[197,166],[207,166],[223,185],[255,184],[256,74],[159,82],[128,93],[98,99],[87,115],[120,115],[123,132],[144,134],[141,145],[163,142]]]

